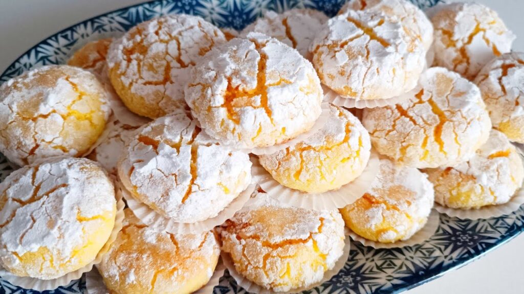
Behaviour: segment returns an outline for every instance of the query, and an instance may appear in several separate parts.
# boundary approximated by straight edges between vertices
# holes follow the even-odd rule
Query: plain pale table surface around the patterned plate
[[[141,0],[0,0],[0,72],[37,42],[78,21]],[[524,51],[524,0],[477,0],[499,13],[521,38],[514,50]],[[412,289],[409,294],[524,293],[524,235],[478,261]]]

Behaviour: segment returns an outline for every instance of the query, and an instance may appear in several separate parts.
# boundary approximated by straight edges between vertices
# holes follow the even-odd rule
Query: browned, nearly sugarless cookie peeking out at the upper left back
[[[113,38],[100,39],[85,44],[74,52],[67,62],[68,65],[81,67],[99,76],[106,71],[106,55]]]

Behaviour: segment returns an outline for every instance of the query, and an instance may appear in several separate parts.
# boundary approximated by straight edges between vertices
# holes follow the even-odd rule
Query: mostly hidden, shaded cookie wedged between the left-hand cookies
[[[116,176],[119,157],[126,151],[125,146],[132,140],[140,125],[127,125],[115,120],[107,128],[110,129],[107,138],[87,157],[99,162],[109,174]]]

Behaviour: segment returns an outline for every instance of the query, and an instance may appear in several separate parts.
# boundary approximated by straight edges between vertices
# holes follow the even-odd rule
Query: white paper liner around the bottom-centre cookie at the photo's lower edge
[[[261,287],[255,284],[254,282],[248,280],[246,277],[242,276],[241,274],[239,274],[236,271],[235,266],[233,265],[233,261],[231,260],[231,257],[228,253],[222,251],[220,253],[220,256],[222,257],[222,262],[224,263],[225,268],[227,268],[230,275],[235,279],[236,284],[244,288],[244,290],[246,290],[247,292],[256,293],[256,294],[271,294],[271,293],[291,294],[291,293],[298,293],[301,291],[306,291],[314,287],[318,287],[322,285],[324,282],[329,281],[336,274],[338,274],[340,270],[346,264],[347,258],[350,256],[350,248],[351,248],[350,239],[346,237],[346,239],[344,240],[344,252],[342,253],[342,256],[335,263],[335,266],[332,269],[324,273],[324,277],[322,278],[322,280],[320,280],[319,282],[316,282],[315,284],[309,287],[293,289],[292,291],[288,291],[288,292],[275,292],[275,291],[268,290],[264,287]]]

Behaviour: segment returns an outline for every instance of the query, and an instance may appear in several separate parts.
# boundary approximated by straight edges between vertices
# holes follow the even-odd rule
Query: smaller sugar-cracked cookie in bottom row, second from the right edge
[[[408,240],[428,221],[433,196],[427,175],[381,159],[367,193],[341,213],[347,227],[366,239],[383,243]]]

